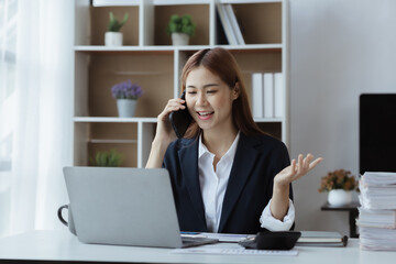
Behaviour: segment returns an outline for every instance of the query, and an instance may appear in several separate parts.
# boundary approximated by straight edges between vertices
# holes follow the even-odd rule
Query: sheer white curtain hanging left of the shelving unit
[[[72,0],[18,0],[15,129],[9,232],[63,228],[62,167],[72,164]]]

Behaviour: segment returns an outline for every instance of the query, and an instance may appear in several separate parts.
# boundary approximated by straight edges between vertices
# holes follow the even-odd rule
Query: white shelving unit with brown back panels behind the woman
[[[156,127],[167,100],[178,97],[182,68],[194,52],[222,46],[230,50],[251,92],[251,74],[282,72],[285,117],[255,119],[268,133],[288,144],[287,0],[219,0],[231,3],[246,45],[216,43],[217,0],[75,0],[74,165],[88,165],[97,151],[116,148],[123,166],[144,167]],[[124,46],[103,45],[108,13],[130,19],[121,30]],[[166,35],[173,13],[190,13],[197,23],[189,46],[172,46]],[[131,79],[142,86],[136,118],[118,118],[110,88]]]

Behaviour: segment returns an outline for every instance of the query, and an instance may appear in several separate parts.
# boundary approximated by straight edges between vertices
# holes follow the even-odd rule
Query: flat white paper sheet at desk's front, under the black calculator
[[[273,256],[296,256],[297,250],[289,251],[267,251],[267,250],[245,250],[245,249],[224,249],[224,248],[187,248],[172,250],[173,254],[209,254],[209,255],[273,255]]]

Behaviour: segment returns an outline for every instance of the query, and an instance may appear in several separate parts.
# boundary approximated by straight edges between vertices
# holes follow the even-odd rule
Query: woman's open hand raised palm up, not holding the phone
[[[288,167],[285,167],[280,173],[278,173],[274,178],[274,185],[288,187],[289,184],[296,179],[299,179],[306,175],[309,170],[315,168],[323,158],[318,157],[314,160],[312,154],[308,154],[304,157],[302,154],[298,155],[298,162],[296,160],[292,161],[292,164]]]

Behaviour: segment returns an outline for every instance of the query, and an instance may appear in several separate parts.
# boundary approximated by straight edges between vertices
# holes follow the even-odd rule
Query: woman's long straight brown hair
[[[245,135],[264,134],[254,122],[251,108],[249,106],[246,88],[242,79],[241,70],[233,55],[221,47],[206,48],[196,52],[190,56],[182,72],[182,91],[186,89],[188,74],[199,66],[204,66],[212,74],[218,75],[229,87],[233,89],[238,86],[239,97],[232,105],[232,120],[237,129]],[[186,138],[195,138],[201,129],[193,120]]]

